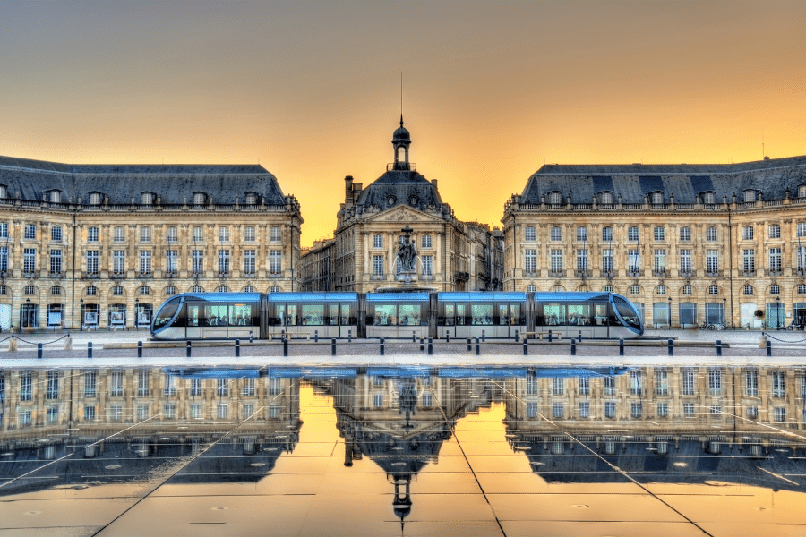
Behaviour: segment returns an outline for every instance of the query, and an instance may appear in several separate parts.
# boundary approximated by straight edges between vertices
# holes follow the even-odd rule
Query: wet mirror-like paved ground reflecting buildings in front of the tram
[[[718,336],[721,360],[21,345],[0,352],[0,536],[806,534],[801,334],[769,358]]]

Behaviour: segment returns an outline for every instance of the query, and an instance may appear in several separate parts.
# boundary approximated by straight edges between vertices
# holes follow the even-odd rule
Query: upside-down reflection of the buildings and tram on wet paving
[[[332,397],[344,464],[386,473],[401,524],[417,474],[493,402],[544,482],[800,490],[782,476],[806,474],[804,368],[29,369],[0,371],[0,495],[257,482],[296,447],[301,382]]]

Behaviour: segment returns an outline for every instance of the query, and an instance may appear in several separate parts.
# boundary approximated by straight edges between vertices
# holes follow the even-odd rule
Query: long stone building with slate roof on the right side
[[[806,157],[546,165],[502,223],[505,290],[612,291],[655,327],[806,320]]]

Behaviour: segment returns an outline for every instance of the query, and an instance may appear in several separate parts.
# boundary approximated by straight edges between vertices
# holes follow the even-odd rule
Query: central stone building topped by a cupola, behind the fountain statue
[[[403,126],[392,135],[394,162],[369,186],[345,177],[345,200],[337,215],[332,243],[314,247],[304,266],[330,267],[330,287],[309,271],[304,288],[313,291],[433,289],[475,291],[494,289],[502,279],[502,265],[493,263],[501,242],[485,226],[457,219],[442,201],[437,181],[427,180],[409,161],[411,136]],[[400,237],[410,226],[416,249],[413,274],[401,277]],[[327,260],[325,260],[327,259]],[[316,274],[319,274],[316,272]],[[319,282],[317,285],[314,281]]]

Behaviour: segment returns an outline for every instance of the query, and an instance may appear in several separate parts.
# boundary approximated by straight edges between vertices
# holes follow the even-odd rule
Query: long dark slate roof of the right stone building
[[[541,196],[561,192],[563,203],[571,196],[573,203],[590,203],[600,192],[613,192],[613,202],[622,196],[623,203],[643,203],[650,192],[664,192],[676,203],[695,203],[702,192],[715,192],[716,201],[725,195],[728,201],[742,192],[762,192],[765,200],[797,195],[799,185],[806,184],[806,156],[775,158],[740,164],[618,164],[542,166],[529,177],[520,203],[540,203]],[[548,200],[546,199],[546,202]]]

